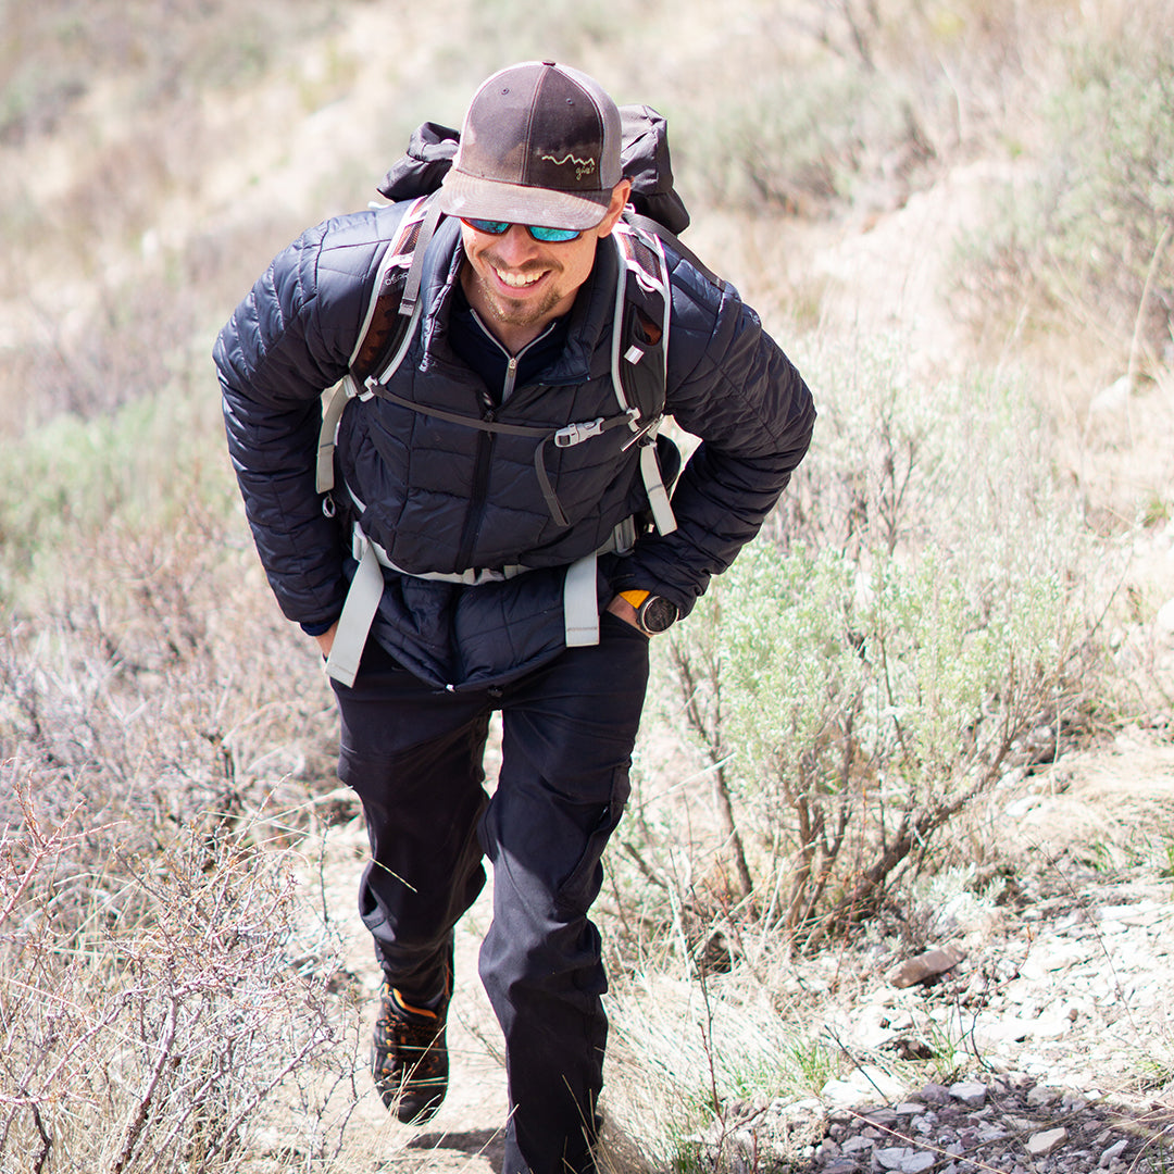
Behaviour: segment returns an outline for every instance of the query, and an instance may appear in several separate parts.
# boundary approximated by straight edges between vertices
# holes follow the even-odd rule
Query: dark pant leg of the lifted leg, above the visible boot
[[[363,802],[371,842],[359,913],[393,985],[426,1000],[447,980],[453,926],[485,884],[487,701],[424,684],[373,643],[355,686],[335,694],[338,774]]]

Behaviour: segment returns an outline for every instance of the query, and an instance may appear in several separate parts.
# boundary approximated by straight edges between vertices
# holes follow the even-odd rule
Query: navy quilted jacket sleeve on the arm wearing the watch
[[[686,262],[673,275],[666,411],[701,439],[673,493],[677,528],[642,538],[613,587],[653,591],[684,615],[758,533],[808,451],[816,416],[754,310]]]

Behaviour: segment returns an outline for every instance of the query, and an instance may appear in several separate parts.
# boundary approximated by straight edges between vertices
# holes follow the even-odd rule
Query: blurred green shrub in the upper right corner
[[[991,223],[963,241],[958,281],[983,313],[1026,305],[1120,362],[1135,343],[1161,355],[1174,342],[1172,55],[1168,16],[1146,6],[1066,47],[1031,182],[993,191]]]

